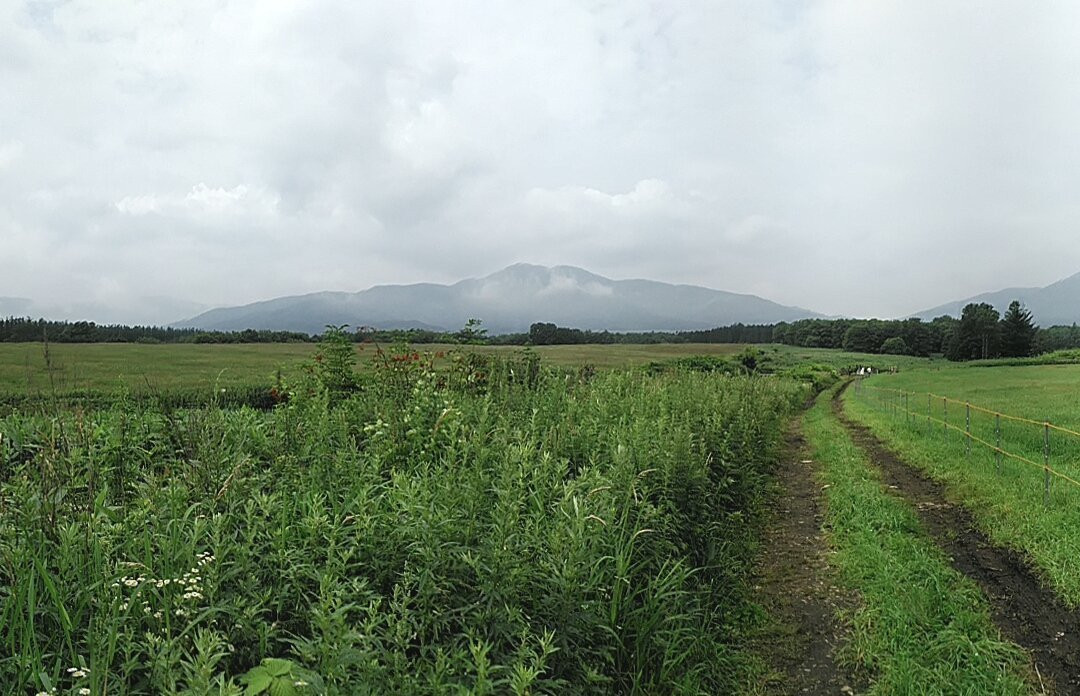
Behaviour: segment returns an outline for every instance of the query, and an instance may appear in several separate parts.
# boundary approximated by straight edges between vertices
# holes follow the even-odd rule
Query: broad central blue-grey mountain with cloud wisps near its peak
[[[596,331],[680,331],[732,323],[820,317],[755,295],[651,280],[611,280],[573,266],[516,264],[453,285],[376,285],[212,309],[174,324],[218,331],[266,329],[320,333],[327,324],[454,331],[470,318],[492,334],[532,322]]]

